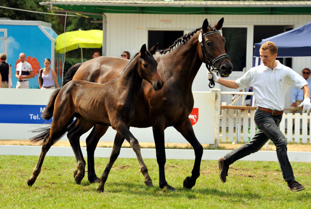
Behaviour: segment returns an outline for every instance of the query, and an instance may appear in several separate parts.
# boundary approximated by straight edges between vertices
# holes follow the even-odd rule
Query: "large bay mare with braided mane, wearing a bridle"
[[[195,153],[192,175],[186,177],[184,187],[192,188],[200,175],[203,147],[195,137],[189,119],[194,103],[191,87],[202,63],[206,63],[207,67],[214,66],[222,77],[231,73],[232,64],[225,54],[225,38],[218,32],[223,23],[224,18],[211,27],[205,19],[202,28],[178,38],[169,49],[154,55],[158,62],[157,71],[164,81],[160,91],[155,92],[146,81],[142,82],[137,102],[137,116],[130,126],[153,127],[160,188],[166,187],[175,191],[175,188],[167,183],[164,169],[166,163],[164,130],[169,126],[173,126],[182,134]],[[91,59],[72,66],[64,78],[64,83],[71,79],[105,83],[118,78],[127,63],[128,60],[117,57],[102,56]],[[90,182],[98,181],[94,170],[94,151],[107,129],[107,125],[97,124],[86,139]],[[121,146],[123,140],[124,138],[117,133],[115,145]],[[75,155],[82,156],[82,152]],[[114,157],[118,155],[119,152],[116,152]]]

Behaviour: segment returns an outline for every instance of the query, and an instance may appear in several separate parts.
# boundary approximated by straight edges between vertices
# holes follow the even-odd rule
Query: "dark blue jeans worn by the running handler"
[[[257,110],[254,120],[258,127],[257,134],[248,143],[226,154],[224,157],[225,164],[230,165],[242,157],[258,152],[271,139],[276,145],[276,155],[284,180],[294,180],[293,168],[287,156],[287,141],[278,128],[282,115],[273,116],[265,111]]]

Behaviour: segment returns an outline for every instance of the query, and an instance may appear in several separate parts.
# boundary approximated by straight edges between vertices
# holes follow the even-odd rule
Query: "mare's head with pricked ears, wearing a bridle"
[[[200,59],[207,64],[207,68],[214,68],[222,77],[227,77],[232,71],[232,63],[225,53],[225,38],[219,32],[222,29],[224,18],[221,18],[214,27],[204,20],[199,35]]]

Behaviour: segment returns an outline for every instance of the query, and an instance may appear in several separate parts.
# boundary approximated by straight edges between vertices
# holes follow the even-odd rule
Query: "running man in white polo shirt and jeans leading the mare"
[[[304,190],[294,177],[293,168],[287,156],[287,141],[279,130],[284,110],[284,95],[289,85],[303,89],[303,112],[309,113],[311,109],[310,88],[307,81],[291,68],[282,65],[276,60],[276,44],[267,41],[259,49],[262,64],[248,70],[241,78],[235,81],[219,78],[215,72],[207,72],[207,78],[213,79],[225,87],[246,88],[253,87],[256,104],[255,123],[258,132],[252,140],[239,148],[219,157],[219,176],[225,183],[229,165],[242,157],[258,152],[261,147],[271,139],[276,145],[276,155],[287,187],[293,192]]]

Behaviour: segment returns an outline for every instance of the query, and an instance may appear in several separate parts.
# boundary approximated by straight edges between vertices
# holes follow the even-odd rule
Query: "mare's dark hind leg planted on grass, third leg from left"
[[[86,151],[87,151],[87,178],[91,183],[98,183],[100,178],[95,173],[94,165],[94,152],[98,144],[99,139],[106,133],[109,126],[95,125],[90,135],[86,138]]]

